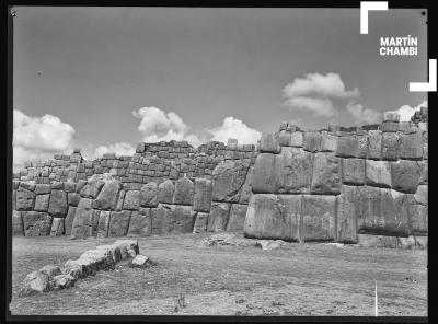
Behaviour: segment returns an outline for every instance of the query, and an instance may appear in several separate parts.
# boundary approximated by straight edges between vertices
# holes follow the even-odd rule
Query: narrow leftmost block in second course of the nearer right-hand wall
[[[287,154],[287,152],[288,150],[285,150],[284,154]],[[261,153],[257,155],[254,164],[254,173],[252,178],[253,193],[276,192],[275,162],[276,162],[275,154]],[[292,169],[290,170],[292,171]]]

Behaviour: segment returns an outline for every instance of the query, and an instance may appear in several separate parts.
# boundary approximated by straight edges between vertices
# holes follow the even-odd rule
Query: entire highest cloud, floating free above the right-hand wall
[[[355,99],[360,95],[359,90],[346,90],[346,86],[336,73],[309,73],[306,78],[297,78],[283,90],[285,105],[311,112],[314,116],[333,117],[336,109],[332,100]]]

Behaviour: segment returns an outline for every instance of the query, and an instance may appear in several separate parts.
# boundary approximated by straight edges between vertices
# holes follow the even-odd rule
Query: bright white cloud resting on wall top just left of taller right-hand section
[[[232,116],[226,117],[222,125],[209,129],[212,135],[211,140],[227,143],[229,138],[235,138],[242,144],[255,144],[261,137],[261,132],[246,126],[242,120]]]

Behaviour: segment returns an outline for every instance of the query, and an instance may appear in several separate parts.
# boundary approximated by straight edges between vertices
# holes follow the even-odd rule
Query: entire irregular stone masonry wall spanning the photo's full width
[[[229,140],[194,149],[170,141],[92,162],[79,150],[55,155],[14,175],[13,233],[244,230],[258,239],[349,243],[366,234],[423,238],[428,132],[422,116],[415,124],[385,114],[381,127],[320,131],[284,121],[257,146]]]

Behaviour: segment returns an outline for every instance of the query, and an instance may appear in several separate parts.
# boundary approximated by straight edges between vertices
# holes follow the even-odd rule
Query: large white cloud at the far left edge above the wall
[[[13,169],[25,161],[44,161],[55,152],[71,149],[74,128],[58,117],[46,114],[27,116],[19,109],[13,112]]]

